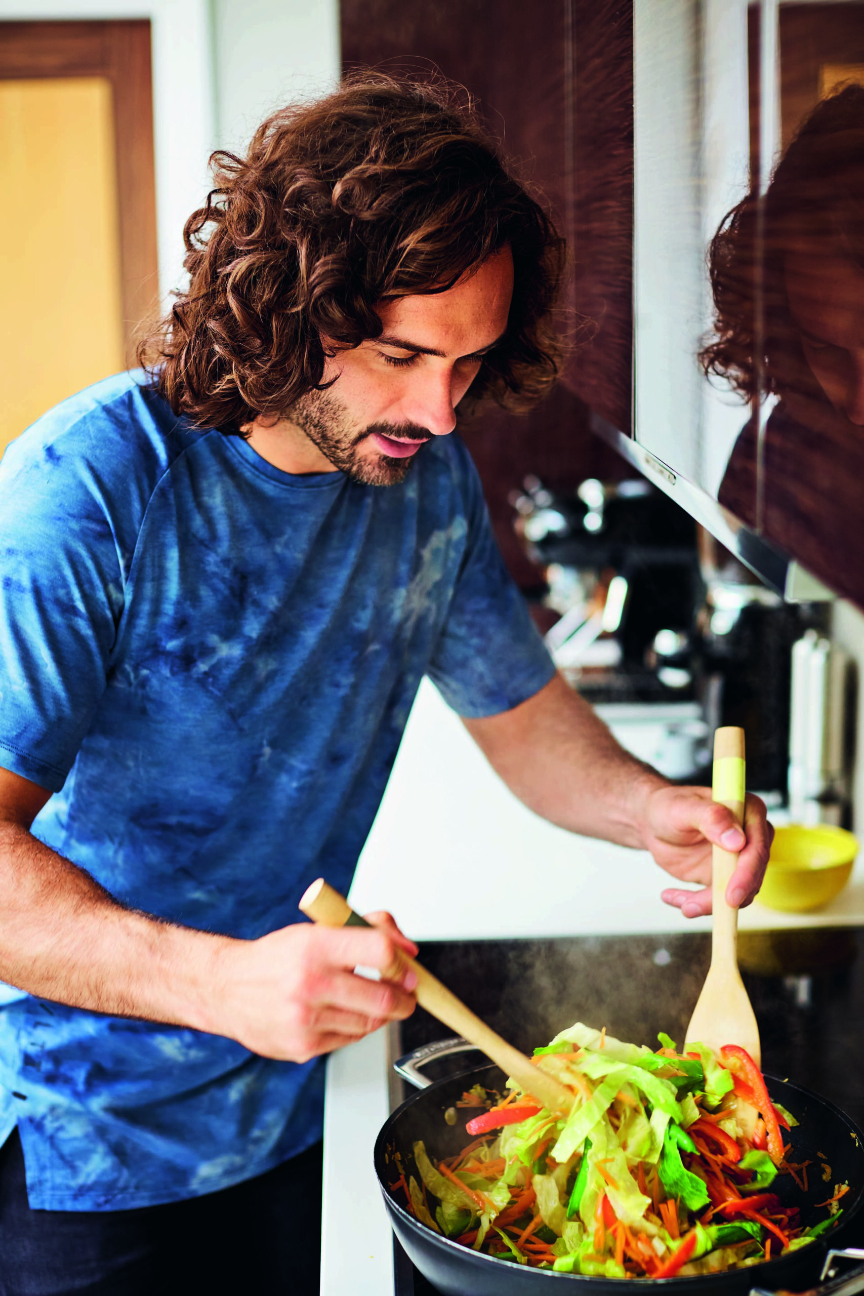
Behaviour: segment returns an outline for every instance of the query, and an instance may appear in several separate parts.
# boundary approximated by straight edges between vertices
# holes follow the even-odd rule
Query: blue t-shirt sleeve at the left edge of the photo
[[[100,429],[62,428],[62,411],[0,463],[0,765],[51,792],[105,691],[123,607],[106,483],[87,454]]]

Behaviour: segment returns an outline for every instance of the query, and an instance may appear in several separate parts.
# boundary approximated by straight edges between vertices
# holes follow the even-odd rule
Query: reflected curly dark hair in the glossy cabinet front
[[[764,196],[753,187],[711,240],[716,336],[702,347],[699,362],[706,376],[727,378],[750,400],[793,389],[815,394],[786,294],[790,253],[839,254],[864,268],[860,86],[846,86],[816,105]]]

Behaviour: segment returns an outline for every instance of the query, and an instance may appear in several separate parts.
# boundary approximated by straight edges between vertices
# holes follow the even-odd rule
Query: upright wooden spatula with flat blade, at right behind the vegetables
[[[744,730],[719,728],[714,735],[714,800],[728,806],[744,824]],[[759,1026],[738,972],[738,911],[725,898],[737,854],[714,846],[711,851],[711,967],[690,1024],[688,1043],[703,1043],[718,1052],[723,1045],[746,1048],[762,1067]]]

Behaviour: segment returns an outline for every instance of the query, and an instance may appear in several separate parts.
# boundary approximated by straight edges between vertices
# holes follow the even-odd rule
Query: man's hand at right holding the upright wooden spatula
[[[645,846],[661,868],[679,881],[703,884],[703,890],[672,886],[663,892],[666,903],[680,908],[685,918],[711,912],[712,845],[740,851],[725,893],[729,903],[741,908],[754,899],[773,837],[759,797],[747,796],[744,832],[732,811],[711,800],[710,788],[654,788],[645,802],[642,822]]]

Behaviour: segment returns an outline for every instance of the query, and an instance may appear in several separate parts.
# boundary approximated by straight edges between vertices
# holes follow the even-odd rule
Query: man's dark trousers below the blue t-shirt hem
[[[246,1183],[137,1210],[31,1210],[0,1148],[0,1296],[316,1296],[321,1146]]]

